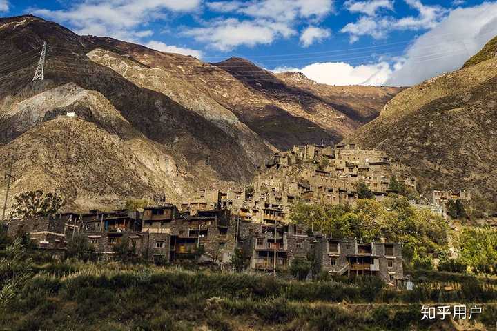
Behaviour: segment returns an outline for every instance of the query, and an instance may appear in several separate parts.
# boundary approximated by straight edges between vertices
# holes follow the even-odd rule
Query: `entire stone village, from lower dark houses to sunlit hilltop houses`
[[[272,272],[289,268],[309,253],[322,270],[338,275],[376,275],[393,286],[403,286],[400,243],[364,243],[362,239],[329,238],[291,220],[296,201],[353,204],[355,188],[362,181],[381,200],[391,192],[392,173],[400,174],[407,188],[416,192],[417,181],[378,150],[353,144],[334,147],[295,146],[277,152],[255,173],[252,185],[228,190],[198,190],[179,206],[157,203],[133,210],[67,212],[53,217],[10,219],[8,233],[27,233],[40,249],[64,254],[76,233],[88,238],[103,256],[127,239],[135,254],[174,263],[200,259],[229,263],[242,250],[248,269]],[[433,190],[415,208],[442,216],[450,199],[471,199],[469,192]]]

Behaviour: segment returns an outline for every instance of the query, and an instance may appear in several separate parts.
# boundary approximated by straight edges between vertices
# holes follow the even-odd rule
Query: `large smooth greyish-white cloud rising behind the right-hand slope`
[[[388,84],[411,86],[456,70],[497,35],[497,3],[456,8],[438,26],[416,39],[402,68]]]

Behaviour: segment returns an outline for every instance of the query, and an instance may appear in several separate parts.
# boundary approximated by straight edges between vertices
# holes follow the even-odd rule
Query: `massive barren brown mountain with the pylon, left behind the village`
[[[31,15],[0,19],[0,40],[10,201],[41,188],[81,209],[155,194],[179,203],[196,188],[249,181],[278,149],[337,142],[365,121],[240,58],[204,63]],[[43,41],[44,79],[32,81]]]

